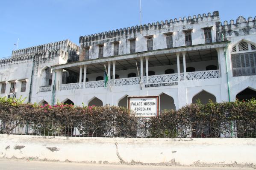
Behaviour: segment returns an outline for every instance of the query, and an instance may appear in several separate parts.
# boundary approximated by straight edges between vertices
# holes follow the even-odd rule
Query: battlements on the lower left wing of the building
[[[50,42],[48,44],[37,45],[29,48],[23,48],[19,50],[12,51],[12,58],[13,57],[21,57],[23,55],[33,54],[33,53],[41,53],[48,51],[56,51],[59,49],[63,49],[64,51],[78,51],[79,46],[76,45],[74,42],[69,40],[62,40],[58,42]]]

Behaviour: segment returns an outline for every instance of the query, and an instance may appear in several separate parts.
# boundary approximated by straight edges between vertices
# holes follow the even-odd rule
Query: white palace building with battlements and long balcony
[[[160,109],[256,97],[256,17],[222,26],[214,11],[91,34],[79,43],[13,51],[0,60],[0,96],[12,96],[12,86],[32,103],[127,106],[127,96],[159,95]]]

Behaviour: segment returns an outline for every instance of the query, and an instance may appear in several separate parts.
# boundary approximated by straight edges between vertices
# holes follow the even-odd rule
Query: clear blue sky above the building
[[[256,0],[141,0],[142,24],[219,11],[221,22],[255,17]],[[139,0],[2,0],[0,58],[12,50],[140,24]]]

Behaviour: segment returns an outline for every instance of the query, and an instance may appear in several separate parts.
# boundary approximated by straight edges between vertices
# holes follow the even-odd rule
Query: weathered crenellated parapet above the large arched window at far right
[[[256,34],[256,17],[248,17],[247,20],[239,16],[235,22],[234,20],[216,22],[217,41],[228,40],[228,37],[245,36],[249,34]]]

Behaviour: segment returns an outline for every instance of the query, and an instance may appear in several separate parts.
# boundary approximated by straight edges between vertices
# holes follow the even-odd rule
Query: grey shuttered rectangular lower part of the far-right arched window
[[[256,53],[232,54],[233,76],[256,75]]]

